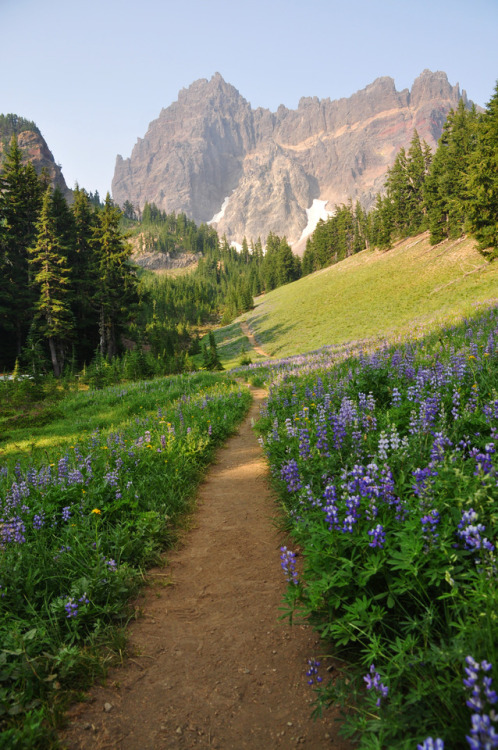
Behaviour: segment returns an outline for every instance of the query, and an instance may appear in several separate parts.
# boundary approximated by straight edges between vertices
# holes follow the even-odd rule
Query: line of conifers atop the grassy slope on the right
[[[434,154],[414,131],[371,211],[349,202],[321,220],[307,242],[303,274],[423,231],[432,244],[469,233],[486,257],[498,255],[498,84],[484,113],[463,101],[449,112]]]

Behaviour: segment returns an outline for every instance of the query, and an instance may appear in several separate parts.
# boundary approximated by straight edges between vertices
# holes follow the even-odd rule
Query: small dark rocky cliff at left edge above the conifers
[[[45,170],[52,187],[58,186],[65,197],[70,199],[72,191],[67,187],[61,168],[55,163],[52,152],[40,131],[34,123],[29,123],[15,115],[0,115],[0,171],[13,133],[17,136],[24,161],[32,162],[38,174]]]

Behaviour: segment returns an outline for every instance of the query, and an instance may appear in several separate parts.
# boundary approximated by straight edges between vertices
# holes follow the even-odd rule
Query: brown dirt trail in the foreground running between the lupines
[[[251,429],[265,394],[253,395],[200,487],[194,528],[151,572],[144,617],[130,627],[135,655],[73,707],[64,747],[347,750],[331,712],[310,718],[305,672],[320,654],[316,636],[278,620],[282,537]]]

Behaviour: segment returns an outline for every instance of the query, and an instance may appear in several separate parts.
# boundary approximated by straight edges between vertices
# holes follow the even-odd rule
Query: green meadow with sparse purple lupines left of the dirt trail
[[[118,427],[0,468],[0,747],[49,747],[70,691],[101,663],[96,647],[124,625],[142,571],[172,542],[214,448],[250,394],[199,373],[70,397]],[[94,413],[94,411],[92,413]]]

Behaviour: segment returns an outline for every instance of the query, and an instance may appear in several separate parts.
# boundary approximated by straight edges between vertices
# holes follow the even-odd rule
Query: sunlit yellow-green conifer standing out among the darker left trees
[[[73,318],[69,305],[69,269],[52,214],[50,189],[43,197],[36,232],[36,243],[29,248],[36,318],[39,330],[48,342],[54,375],[59,377],[73,330]]]

